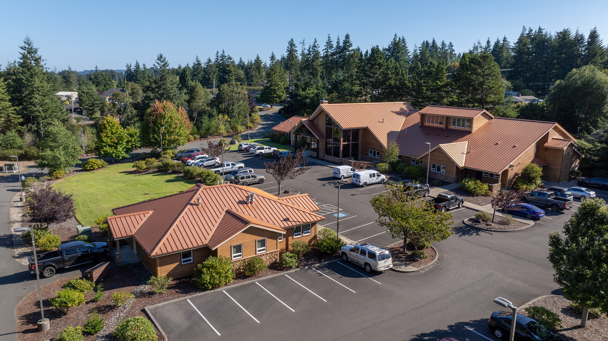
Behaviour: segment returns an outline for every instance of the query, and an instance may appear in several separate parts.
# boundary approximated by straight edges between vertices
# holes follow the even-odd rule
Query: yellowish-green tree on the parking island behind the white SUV
[[[408,198],[401,184],[386,183],[384,187],[386,191],[374,195],[370,203],[378,214],[376,223],[387,228],[391,237],[403,239],[404,254],[408,240],[416,249],[424,249],[452,234],[451,213],[435,211],[423,198]]]

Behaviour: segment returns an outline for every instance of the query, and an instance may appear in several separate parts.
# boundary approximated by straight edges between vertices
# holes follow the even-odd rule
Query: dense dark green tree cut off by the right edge
[[[608,312],[608,208],[606,201],[583,200],[560,232],[549,235],[549,260],[568,300],[583,307],[581,326],[590,308]]]

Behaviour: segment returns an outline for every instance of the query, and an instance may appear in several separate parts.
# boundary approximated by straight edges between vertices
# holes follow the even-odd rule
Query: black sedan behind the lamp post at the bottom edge
[[[511,322],[513,322],[513,312],[494,311],[488,320],[488,327],[494,336],[499,339],[506,339],[511,333]],[[540,323],[530,317],[517,314],[515,335],[517,339],[563,341],[560,337],[551,333]]]

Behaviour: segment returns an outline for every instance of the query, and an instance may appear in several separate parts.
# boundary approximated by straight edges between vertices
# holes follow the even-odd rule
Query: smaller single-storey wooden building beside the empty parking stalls
[[[291,241],[314,238],[317,223],[325,220],[314,213],[319,209],[308,194],[278,198],[236,184],[197,184],[112,209],[116,215],[108,217],[108,226],[118,252],[125,240],[151,274],[175,279],[192,275],[211,255],[235,263],[254,256],[274,262]]]

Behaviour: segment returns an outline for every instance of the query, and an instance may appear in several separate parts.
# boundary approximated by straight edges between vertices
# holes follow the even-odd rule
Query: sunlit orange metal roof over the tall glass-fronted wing
[[[407,102],[320,104],[319,107],[342,129],[367,127],[384,147],[388,141],[396,140],[406,116],[415,112]],[[319,112],[317,108],[311,119]]]

